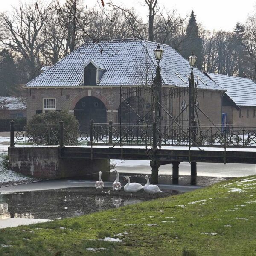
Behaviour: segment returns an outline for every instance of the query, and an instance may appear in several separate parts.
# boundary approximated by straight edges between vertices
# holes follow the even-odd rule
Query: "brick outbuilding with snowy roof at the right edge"
[[[226,90],[223,113],[227,125],[256,127],[256,84],[248,78],[208,73],[209,77]]]

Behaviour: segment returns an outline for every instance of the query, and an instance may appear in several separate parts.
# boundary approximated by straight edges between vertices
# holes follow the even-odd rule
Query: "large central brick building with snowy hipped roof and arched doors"
[[[157,67],[153,52],[156,47],[157,43],[132,39],[83,44],[52,67],[44,67],[41,75],[26,84],[27,119],[36,113],[66,109],[80,124],[88,124],[90,119],[118,122],[120,86],[133,88],[152,82]],[[160,47],[164,50],[160,61],[163,91],[188,88],[189,62],[172,47]],[[194,75],[197,105],[204,111],[198,111],[200,123],[208,125],[208,116],[221,124],[224,90],[196,68]],[[180,113],[189,98],[188,93],[178,97],[172,109]],[[188,119],[188,111],[184,113]]]

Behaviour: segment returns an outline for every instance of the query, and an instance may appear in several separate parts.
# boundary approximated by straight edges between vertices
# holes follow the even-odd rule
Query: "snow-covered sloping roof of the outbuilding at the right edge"
[[[210,78],[227,90],[238,106],[256,106],[256,84],[249,78],[208,73]]]

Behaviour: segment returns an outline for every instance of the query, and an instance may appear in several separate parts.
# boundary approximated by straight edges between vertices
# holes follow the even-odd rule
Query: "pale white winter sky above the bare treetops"
[[[23,2],[35,3],[36,0],[22,0]],[[51,0],[37,0],[49,3]],[[60,0],[64,3],[65,0]],[[91,7],[97,4],[97,0],[83,0],[84,5]],[[100,0],[98,0],[100,2]],[[110,0],[104,0],[108,3]],[[143,0],[112,0],[113,3],[122,7],[136,7],[137,12],[147,19],[147,7],[143,6]],[[158,0],[160,8],[172,11],[177,9],[182,17],[186,17],[193,9],[197,16],[198,23],[201,23],[207,30],[230,30],[237,22],[244,23],[247,15],[256,10],[256,0]],[[211,2],[211,3],[209,3]],[[12,6],[18,6],[19,0],[1,0],[0,12],[10,11]],[[106,4],[107,6],[107,4]]]

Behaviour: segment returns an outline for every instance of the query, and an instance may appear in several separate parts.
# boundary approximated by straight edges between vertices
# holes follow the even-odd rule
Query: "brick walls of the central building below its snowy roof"
[[[46,97],[56,98],[56,109],[69,110],[74,113],[74,106],[82,97],[95,96],[104,102],[107,108],[107,121],[118,122],[118,108],[120,105],[120,95],[118,88],[50,88],[50,89],[28,89],[27,91],[27,120],[36,113],[36,110],[42,110],[42,99]],[[69,97],[67,97],[67,95]],[[188,99],[188,97],[187,97]],[[215,90],[198,90],[197,100],[200,108],[216,125],[221,124],[221,92]],[[180,99],[181,103],[182,99]],[[187,102],[188,104],[188,102]],[[177,111],[180,111],[180,104],[177,105]],[[188,112],[188,111],[187,111]],[[200,124],[209,125],[208,119],[198,113]],[[188,113],[187,117],[188,119]]]

